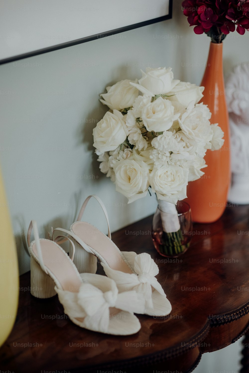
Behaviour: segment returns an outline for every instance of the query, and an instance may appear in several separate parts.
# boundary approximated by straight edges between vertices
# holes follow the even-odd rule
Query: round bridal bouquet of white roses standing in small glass
[[[171,70],[147,68],[138,81],[106,87],[100,101],[110,110],[93,129],[93,146],[100,170],[128,203],[150,187],[160,209],[175,213],[172,204],[204,174],[206,150],[220,149],[224,133],[199,103],[204,87],[175,80]]]

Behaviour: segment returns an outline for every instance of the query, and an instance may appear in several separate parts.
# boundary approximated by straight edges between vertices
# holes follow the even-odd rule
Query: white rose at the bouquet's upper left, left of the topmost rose
[[[104,99],[100,101],[111,110],[131,107],[138,96],[138,90],[130,85],[130,82],[132,81],[125,79],[112,85],[112,87],[106,87],[107,93],[100,95]],[[137,83],[137,79],[134,82]]]

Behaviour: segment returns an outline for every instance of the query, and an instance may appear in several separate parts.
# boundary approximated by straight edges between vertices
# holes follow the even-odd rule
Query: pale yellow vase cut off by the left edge
[[[16,244],[0,170],[0,346],[6,341],[14,325],[18,295]]]

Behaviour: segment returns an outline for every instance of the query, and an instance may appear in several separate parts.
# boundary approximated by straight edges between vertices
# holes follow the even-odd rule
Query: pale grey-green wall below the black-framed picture
[[[247,32],[228,35],[225,74],[249,60],[248,41]],[[116,81],[139,78],[145,66],[171,66],[175,78],[199,84],[208,48],[209,38],[194,34],[174,0],[172,20],[0,66],[0,162],[21,273],[29,270],[24,247],[31,219],[41,236],[51,225],[69,228],[93,193],[105,202],[112,231],[155,211],[149,195],[127,205],[100,173],[92,131],[106,107],[98,95]],[[87,219],[106,231],[99,211],[91,205]]]

